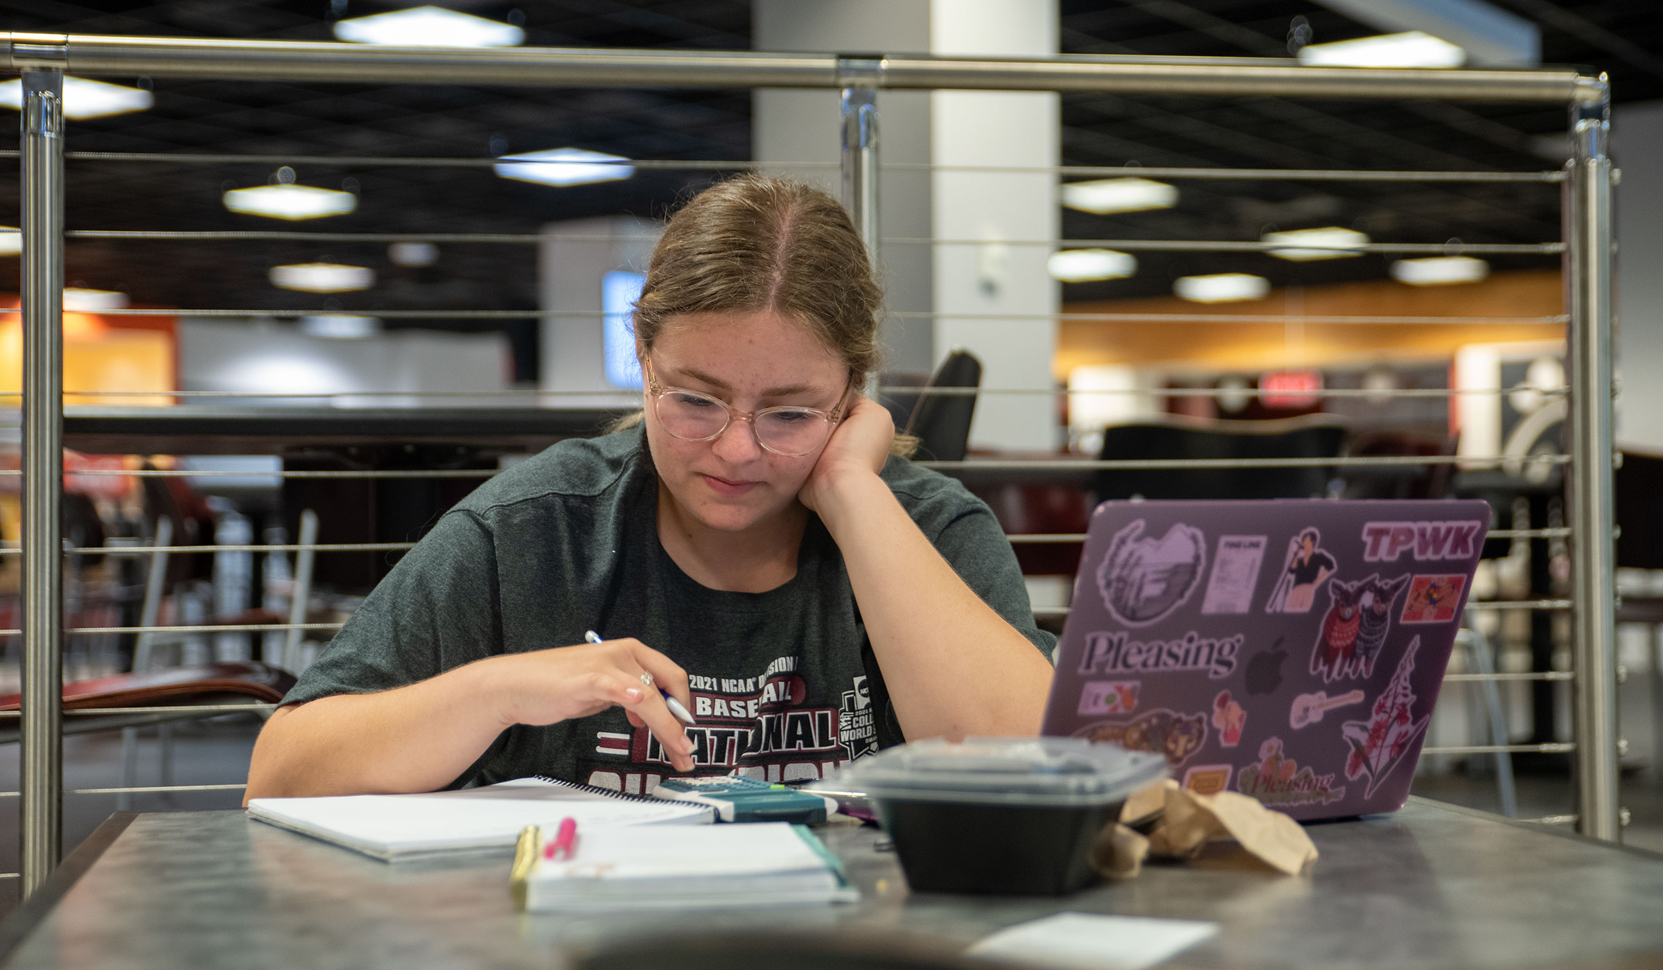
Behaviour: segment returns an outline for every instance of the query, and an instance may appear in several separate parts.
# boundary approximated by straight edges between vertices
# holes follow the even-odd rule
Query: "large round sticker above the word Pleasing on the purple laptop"
[[[1201,584],[1206,536],[1174,522],[1159,539],[1144,537],[1144,519],[1114,534],[1098,566],[1098,589],[1109,614],[1131,627],[1166,619]]]

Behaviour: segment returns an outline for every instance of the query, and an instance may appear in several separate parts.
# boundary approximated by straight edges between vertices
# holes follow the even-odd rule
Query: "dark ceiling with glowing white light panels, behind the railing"
[[[1633,0],[1492,0],[1542,25],[1547,63],[1593,65],[1618,101],[1663,98],[1663,13]],[[402,7],[406,3],[397,3]],[[496,20],[524,18],[526,43],[545,47],[748,48],[747,0],[522,0],[451,3]],[[351,0],[346,15],[392,8]],[[339,0],[161,0],[105,3],[0,0],[0,30],[328,40]],[[1299,0],[1061,0],[1064,53],[1287,57],[1295,17],[1312,42],[1377,33]],[[120,78],[110,78],[120,80]],[[630,158],[750,158],[745,92],[502,90],[229,83],[156,78],[155,108],[72,121],[72,151],[213,151],[238,155],[489,158],[575,145]],[[1543,170],[1563,151],[1562,108],[1452,103],[1319,103],[1281,98],[1063,98],[1066,165],[1274,168]],[[72,230],[291,228],[226,211],[225,188],[263,185],[274,163],[68,163]],[[349,216],[293,228],[359,233],[535,233],[555,220],[662,213],[707,173],[639,171],[619,183],[552,190],[489,168],[294,166],[306,185],[356,181]],[[0,161],[0,196],[17,198],[17,163]],[[17,225],[15,201],[3,203]],[[1177,208],[1089,216],[1068,211],[1069,238],[1257,240],[1267,226],[1354,225],[1379,241],[1535,243],[1558,238],[1552,185],[1197,183]],[[339,298],[273,288],[274,263],[331,258],[376,268],[379,283]],[[1543,258],[1497,266],[1552,265]],[[15,261],[12,261],[15,266]],[[1382,276],[1364,256],[1285,263],[1259,255],[1146,255],[1133,280],[1071,285],[1068,299],[1167,293],[1187,273],[1251,270],[1276,283]],[[0,271],[13,271],[0,265]],[[526,245],[446,245],[436,266],[394,266],[384,245],[156,243],[75,240],[68,278],[123,290],[135,303],[181,308],[534,309],[535,253]],[[396,321],[389,321],[396,324]],[[521,378],[532,378],[529,321],[422,321],[506,328]]]

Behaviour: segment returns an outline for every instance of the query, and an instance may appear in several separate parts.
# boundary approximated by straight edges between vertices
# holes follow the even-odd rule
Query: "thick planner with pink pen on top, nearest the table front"
[[[758,907],[853,902],[841,862],[803,825],[577,827],[570,859],[545,859],[554,825],[527,827],[511,885],[522,910]]]

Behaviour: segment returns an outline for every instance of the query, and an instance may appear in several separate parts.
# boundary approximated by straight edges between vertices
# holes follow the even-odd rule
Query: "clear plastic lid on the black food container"
[[[1066,809],[1121,802],[1166,774],[1166,759],[1157,754],[1083,737],[968,737],[891,747],[808,789]]]

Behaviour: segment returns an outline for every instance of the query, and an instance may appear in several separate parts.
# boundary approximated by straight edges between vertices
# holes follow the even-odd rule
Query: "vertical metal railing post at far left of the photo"
[[[63,75],[23,72],[23,897],[63,852]]]

